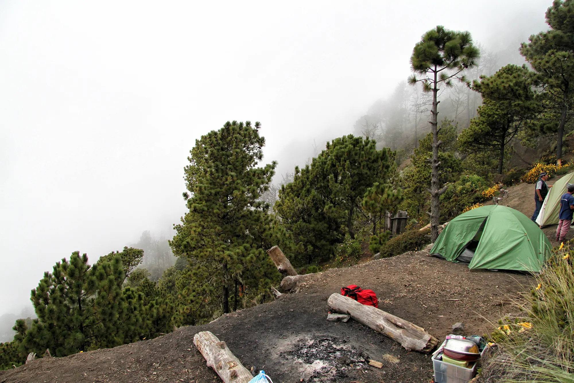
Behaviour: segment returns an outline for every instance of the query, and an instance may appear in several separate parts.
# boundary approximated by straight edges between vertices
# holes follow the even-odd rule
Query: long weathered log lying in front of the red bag
[[[327,303],[333,310],[350,315],[359,323],[401,343],[401,346],[409,351],[430,353],[439,343],[439,340],[425,332],[424,328],[341,294],[331,294]]]

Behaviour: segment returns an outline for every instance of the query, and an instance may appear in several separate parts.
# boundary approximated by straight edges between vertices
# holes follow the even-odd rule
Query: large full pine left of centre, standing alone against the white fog
[[[230,286],[250,280],[251,288],[269,285],[278,278],[264,248],[270,247],[272,217],[269,204],[260,200],[269,189],[276,162],[257,167],[265,139],[261,124],[226,122],[196,140],[185,167],[189,213],[176,225],[170,245],[174,254],[192,261],[201,278],[188,281],[200,290],[189,307],[201,304],[214,292],[222,293],[223,312],[230,311]],[[254,271],[263,270],[257,281]],[[259,271],[258,271],[259,272]],[[208,297],[203,296],[208,294]],[[192,316],[195,314],[192,314]]]

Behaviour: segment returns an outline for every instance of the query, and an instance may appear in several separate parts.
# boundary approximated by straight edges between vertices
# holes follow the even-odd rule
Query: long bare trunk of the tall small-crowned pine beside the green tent
[[[438,129],[438,114],[437,111],[439,102],[437,101],[437,71],[435,65],[435,82],[432,89],[432,108],[430,110],[430,128],[432,129],[432,159],[430,159],[430,242],[436,242],[439,237],[439,218],[440,218],[440,202],[439,202],[439,129]]]

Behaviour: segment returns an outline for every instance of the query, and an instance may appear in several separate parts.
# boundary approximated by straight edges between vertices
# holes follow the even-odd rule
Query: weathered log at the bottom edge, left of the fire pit
[[[207,361],[207,366],[214,369],[224,383],[248,383],[253,379],[249,370],[227,348],[227,344],[220,342],[210,331],[195,334],[193,344]]]

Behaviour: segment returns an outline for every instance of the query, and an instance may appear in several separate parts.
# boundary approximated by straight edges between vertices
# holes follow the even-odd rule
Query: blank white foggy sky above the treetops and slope
[[[406,79],[426,30],[506,48],[551,3],[0,2],[0,314],[72,251],[168,233],[200,135],[261,121],[290,171]]]

